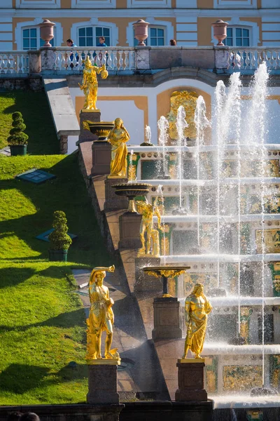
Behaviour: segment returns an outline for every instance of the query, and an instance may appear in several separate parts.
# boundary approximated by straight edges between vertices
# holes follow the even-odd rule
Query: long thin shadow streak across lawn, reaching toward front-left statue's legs
[[[13,332],[18,330],[25,332],[30,328],[38,328],[43,326],[52,326],[57,328],[72,328],[73,326],[83,326],[85,324],[85,310],[83,308],[73,310],[73,312],[61,313],[58,316],[50,317],[45,321],[39,321],[38,323],[30,323],[25,326],[5,326],[0,325],[0,331]]]

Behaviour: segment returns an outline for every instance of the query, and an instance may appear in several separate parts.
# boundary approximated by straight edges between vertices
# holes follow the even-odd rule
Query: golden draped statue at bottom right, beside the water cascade
[[[196,283],[193,292],[188,295],[185,303],[186,317],[186,342],[182,359],[186,359],[188,350],[195,353],[195,358],[200,359],[207,328],[207,314],[212,306],[203,293],[202,283]]]

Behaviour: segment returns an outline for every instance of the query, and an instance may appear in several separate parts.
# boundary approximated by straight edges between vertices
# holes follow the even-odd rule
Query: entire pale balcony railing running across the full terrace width
[[[92,65],[105,65],[118,74],[155,73],[173,67],[251,74],[262,62],[271,72],[280,73],[280,48],[275,47],[52,47],[0,52],[0,77],[81,74],[87,56]]]

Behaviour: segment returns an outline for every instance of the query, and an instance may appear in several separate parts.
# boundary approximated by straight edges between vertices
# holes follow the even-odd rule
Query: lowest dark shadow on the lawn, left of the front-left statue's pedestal
[[[70,382],[87,377],[86,364],[67,364],[57,373],[49,373],[49,369],[28,364],[10,364],[0,373],[0,391],[24,394],[36,387],[43,387],[57,382]],[[51,376],[51,377],[50,377]]]

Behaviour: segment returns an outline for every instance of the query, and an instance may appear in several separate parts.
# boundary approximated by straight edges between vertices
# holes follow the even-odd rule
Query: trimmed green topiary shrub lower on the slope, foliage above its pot
[[[68,250],[71,246],[71,237],[67,234],[67,220],[66,215],[62,210],[55,210],[53,213],[52,227],[54,231],[50,233],[48,239],[51,243],[52,250]]]

